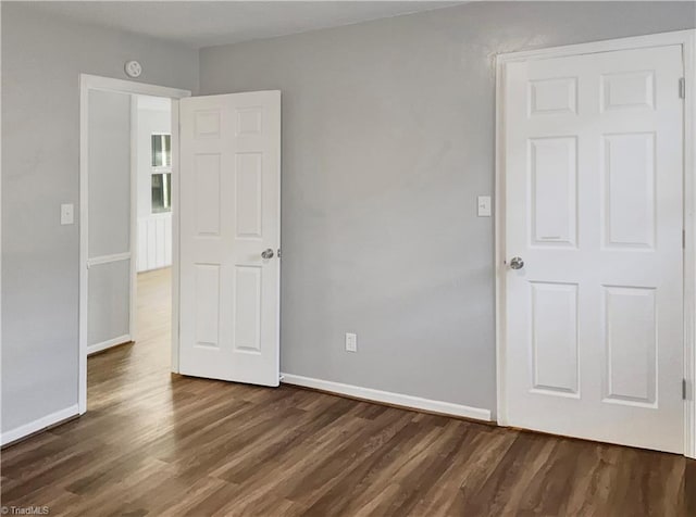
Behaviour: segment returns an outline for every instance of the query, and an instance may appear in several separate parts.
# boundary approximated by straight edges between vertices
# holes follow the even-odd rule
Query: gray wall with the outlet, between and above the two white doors
[[[203,49],[202,93],[283,91],[283,371],[495,409],[494,55],[695,18],[478,2]]]

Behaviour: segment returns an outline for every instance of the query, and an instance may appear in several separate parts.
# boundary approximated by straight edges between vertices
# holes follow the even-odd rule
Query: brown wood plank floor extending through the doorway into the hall
[[[89,411],[2,451],[2,504],[50,515],[696,516],[696,462],[171,375],[170,272],[139,340],[89,358]]]

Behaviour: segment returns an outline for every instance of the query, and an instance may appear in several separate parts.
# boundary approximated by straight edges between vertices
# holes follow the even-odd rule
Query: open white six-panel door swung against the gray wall
[[[278,386],[281,92],[183,99],[179,371]]]

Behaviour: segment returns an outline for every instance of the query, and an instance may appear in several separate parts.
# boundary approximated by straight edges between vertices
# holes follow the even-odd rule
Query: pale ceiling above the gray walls
[[[176,41],[237,43],[428,11],[457,1],[82,1],[32,2],[51,16]]]

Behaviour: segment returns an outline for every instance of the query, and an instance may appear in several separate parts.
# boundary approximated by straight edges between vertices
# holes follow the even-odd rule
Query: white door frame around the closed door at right
[[[505,72],[508,63],[538,59],[610,52],[679,45],[684,60],[686,96],[684,101],[684,455],[696,458],[696,30],[679,30],[633,38],[621,38],[591,43],[554,47],[522,52],[502,53],[496,56],[496,377],[497,418],[501,426],[508,425],[506,398],[506,228],[505,228]],[[679,85],[674,85],[674,94]]]

